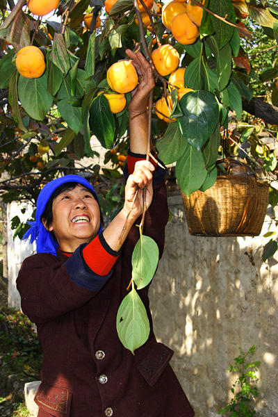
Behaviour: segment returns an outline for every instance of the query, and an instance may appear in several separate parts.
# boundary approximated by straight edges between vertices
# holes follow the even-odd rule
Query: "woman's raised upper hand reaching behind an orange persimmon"
[[[149,92],[154,88],[154,74],[151,65],[141,52],[133,52],[126,49],[126,55],[133,61],[139,77],[138,87],[131,93],[133,95],[129,103],[129,115],[135,116],[147,110]]]

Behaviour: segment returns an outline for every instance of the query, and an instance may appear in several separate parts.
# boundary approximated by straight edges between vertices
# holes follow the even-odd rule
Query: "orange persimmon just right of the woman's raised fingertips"
[[[161,47],[154,49],[152,61],[158,74],[169,75],[179,67],[179,52],[170,44],[161,45]]]

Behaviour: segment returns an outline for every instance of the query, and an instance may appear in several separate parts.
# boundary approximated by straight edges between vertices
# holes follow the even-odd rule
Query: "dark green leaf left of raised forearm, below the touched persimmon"
[[[90,127],[92,133],[103,147],[111,149],[113,147],[115,120],[109,108],[108,101],[103,95],[97,96],[92,101],[90,108]]]

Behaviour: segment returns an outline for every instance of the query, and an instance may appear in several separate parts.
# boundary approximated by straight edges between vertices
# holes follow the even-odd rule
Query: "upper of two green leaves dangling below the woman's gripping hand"
[[[145,288],[152,281],[158,265],[159,250],[154,239],[140,231],[140,238],[132,254],[132,277],[137,289]]]

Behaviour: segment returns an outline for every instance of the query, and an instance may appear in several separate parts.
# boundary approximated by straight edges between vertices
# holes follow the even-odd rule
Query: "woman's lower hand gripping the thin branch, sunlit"
[[[126,181],[124,211],[126,211],[126,214],[129,213],[129,219],[133,222],[143,211],[144,188],[146,208],[149,208],[152,203],[152,172],[154,172],[154,169],[154,165],[149,161],[138,161],[136,162],[133,174],[129,175],[129,178]]]

